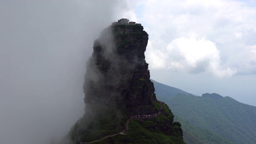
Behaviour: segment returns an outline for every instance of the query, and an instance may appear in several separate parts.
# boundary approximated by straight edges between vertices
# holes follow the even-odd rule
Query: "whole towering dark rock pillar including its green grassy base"
[[[112,24],[95,40],[84,76],[85,113],[68,144],[184,144],[179,122],[157,100],[140,24]]]

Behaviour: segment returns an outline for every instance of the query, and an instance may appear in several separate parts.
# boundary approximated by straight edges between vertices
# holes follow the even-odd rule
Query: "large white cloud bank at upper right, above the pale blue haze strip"
[[[139,4],[144,13],[138,21],[149,34],[146,58],[152,68],[221,77],[236,70],[256,74],[255,55],[248,48],[256,45],[255,1],[147,0]],[[198,51],[191,51],[188,43]]]

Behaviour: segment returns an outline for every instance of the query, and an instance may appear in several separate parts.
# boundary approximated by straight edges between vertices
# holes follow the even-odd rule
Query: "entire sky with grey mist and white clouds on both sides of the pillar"
[[[1,144],[68,132],[84,114],[93,41],[120,18],[148,32],[152,79],[256,106],[255,0],[1,0]]]

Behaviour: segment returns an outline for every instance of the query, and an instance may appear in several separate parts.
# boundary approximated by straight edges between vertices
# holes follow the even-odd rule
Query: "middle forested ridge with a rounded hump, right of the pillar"
[[[174,114],[194,126],[216,132],[236,144],[255,144],[256,107],[230,97],[211,98],[177,94],[166,103]]]

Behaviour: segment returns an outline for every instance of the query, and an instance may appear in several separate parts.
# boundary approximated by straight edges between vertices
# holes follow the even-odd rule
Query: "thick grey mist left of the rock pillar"
[[[0,143],[55,143],[84,114],[93,42],[126,2],[13,0],[0,10]]]

